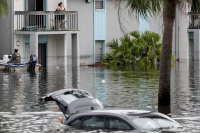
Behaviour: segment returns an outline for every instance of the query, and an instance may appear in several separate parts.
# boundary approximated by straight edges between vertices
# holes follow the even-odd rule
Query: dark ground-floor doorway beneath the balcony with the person
[[[46,58],[47,58],[47,47],[46,43],[38,44],[38,64],[41,64],[43,68],[46,68]]]

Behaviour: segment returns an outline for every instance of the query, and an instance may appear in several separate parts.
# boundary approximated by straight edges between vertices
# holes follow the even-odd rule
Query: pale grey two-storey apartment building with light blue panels
[[[4,54],[11,54],[18,48],[23,62],[29,60],[30,54],[37,54],[39,63],[44,67],[72,64],[72,57],[77,65],[80,62],[91,64],[100,62],[105,53],[109,52],[109,48],[106,47],[108,42],[123,36],[113,0],[8,0],[8,2],[9,15],[0,20],[1,59]],[[54,13],[59,2],[63,2],[68,9],[68,12],[63,14],[66,16],[65,30],[61,31],[56,29],[57,21]],[[124,7],[126,2],[123,1],[121,6]],[[128,13],[124,11],[123,17],[127,33],[134,30],[142,32],[150,30],[162,36],[163,22],[160,16],[153,18],[149,16],[148,19],[139,16],[138,19],[130,19]],[[198,35],[188,28],[188,20],[188,15],[182,14],[177,8],[173,34],[173,54],[176,59],[188,60],[192,58],[192,52],[198,54],[195,52],[197,49],[192,46],[191,39]],[[197,45],[199,46],[199,43]]]

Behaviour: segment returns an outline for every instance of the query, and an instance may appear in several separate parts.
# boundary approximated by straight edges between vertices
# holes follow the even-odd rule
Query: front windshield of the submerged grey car
[[[168,117],[142,116],[132,120],[133,124],[140,130],[153,131],[180,126],[176,121]]]

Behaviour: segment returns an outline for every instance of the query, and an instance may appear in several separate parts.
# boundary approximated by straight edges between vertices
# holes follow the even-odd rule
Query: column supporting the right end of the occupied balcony
[[[72,34],[72,66],[80,65],[79,33]]]

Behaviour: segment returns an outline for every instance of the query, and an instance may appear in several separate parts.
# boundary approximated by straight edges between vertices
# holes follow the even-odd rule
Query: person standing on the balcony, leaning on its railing
[[[67,9],[64,7],[63,2],[58,3],[56,11],[67,11]],[[62,25],[64,25],[65,22],[65,15],[55,15],[55,20],[57,21],[58,29],[61,30],[61,27]]]

